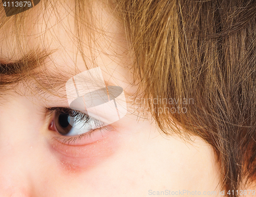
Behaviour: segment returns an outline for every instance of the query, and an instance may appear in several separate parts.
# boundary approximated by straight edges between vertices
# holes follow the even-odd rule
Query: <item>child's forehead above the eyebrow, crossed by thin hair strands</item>
[[[22,26],[18,37],[13,23],[5,24],[0,28],[0,60],[15,61],[34,48],[56,50],[45,62],[47,70],[66,71],[72,77],[100,67],[105,80],[127,86],[132,62],[121,23],[103,2],[93,1],[82,18],[76,18],[75,10],[72,1],[47,9],[38,4],[24,24],[17,22]]]

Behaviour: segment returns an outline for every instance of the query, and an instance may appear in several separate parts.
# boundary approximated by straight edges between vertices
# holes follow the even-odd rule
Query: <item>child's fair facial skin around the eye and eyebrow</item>
[[[95,32],[94,42],[84,43],[87,65],[89,69],[97,65],[105,81],[133,94],[137,87],[131,85],[132,57],[126,51],[121,26],[110,12],[102,11],[102,4],[95,5],[97,26],[106,32],[105,37]],[[37,14],[36,7],[33,9]],[[31,31],[32,21],[28,20],[25,29],[32,36],[24,50],[44,40],[41,47],[59,49],[46,62],[47,69],[59,75],[70,72],[72,77],[78,74],[75,61],[79,72],[87,69],[77,55],[71,10],[65,3],[57,9],[62,19],[58,24],[54,14],[49,20],[41,17],[33,21],[37,24]],[[13,37],[1,39],[0,48],[0,58],[10,57],[13,51],[16,56],[12,60],[20,58]],[[56,87],[58,91],[65,92]],[[65,137],[54,138],[61,137],[51,126],[54,114],[46,116],[44,111],[45,107],[69,107],[67,98],[42,92],[37,96],[21,85],[6,92],[0,103],[1,196],[147,196],[154,191],[213,191],[219,181],[214,179],[217,170],[211,165],[214,156],[208,145],[199,138],[187,144],[176,135],[160,135],[150,117],[131,113],[134,107],[130,102],[125,117],[108,129],[96,129],[92,138],[82,136],[74,143]]]

